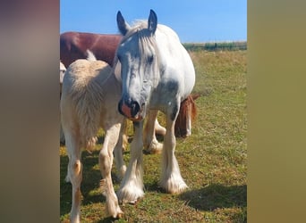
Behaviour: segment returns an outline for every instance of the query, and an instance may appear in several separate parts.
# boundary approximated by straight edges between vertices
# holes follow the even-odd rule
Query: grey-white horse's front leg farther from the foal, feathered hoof
[[[175,194],[181,193],[188,186],[183,181],[180,168],[176,161],[174,151],[176,139],[174,136],[174,125],[179,111],[179,104],[166,112],[166,136],[164,138],[164,148],[162,153],[162,172],[160,186],[166,192]]]

